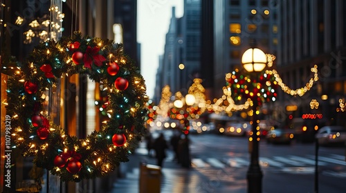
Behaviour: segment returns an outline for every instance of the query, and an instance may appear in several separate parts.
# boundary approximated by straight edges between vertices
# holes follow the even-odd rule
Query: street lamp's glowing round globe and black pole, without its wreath
[[[266,54],[258,48],[249,48],[242,56],[242,65],[248,72],[261,72],[266,67]],[[259,128],[257,123],[258,95],[253,96],[252,135],[249,137],[249,149],[251,153],[250,165],[246,173],[248,180],[248,192],[262,192],[262,170],[259,163]]]

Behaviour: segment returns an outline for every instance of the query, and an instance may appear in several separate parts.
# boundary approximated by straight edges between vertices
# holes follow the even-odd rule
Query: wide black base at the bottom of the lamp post
[[[252,166],[246,173],[248,179],[248,193],[262,193],[262,171],[260,166]]]

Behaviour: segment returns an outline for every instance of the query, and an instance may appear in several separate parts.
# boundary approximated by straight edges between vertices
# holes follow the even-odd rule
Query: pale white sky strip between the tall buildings
[[[183,0],[137,1],[137,41],[141,46],[140,72],[145,79],[147,95],[150,98],[154,96],[158,56],[164,51],[172,6],[176,7],[176,17],[182,17]]]

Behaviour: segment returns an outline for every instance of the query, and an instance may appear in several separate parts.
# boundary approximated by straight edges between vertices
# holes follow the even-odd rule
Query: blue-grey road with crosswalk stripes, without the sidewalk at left
[[[191,139],[193,167],[210,180],[209,192],[246,181],[249,160],[246,137],[204,134]],[[320,147],[318,153],[319,191],[343,192],[345,148]],[[260,165],[264,174],[263,192],[314,192],[314,144],[272,145],[260,141]]]

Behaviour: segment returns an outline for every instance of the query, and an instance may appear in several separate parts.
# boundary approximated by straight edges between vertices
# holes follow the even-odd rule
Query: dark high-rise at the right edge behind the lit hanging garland
[[[319,81],[300,99],[281,97],[285,105],[296,104],[294,114],[311,112],[309,102],[316,99],[318,110],[326,120],[340,116],[338,99],[346,94],[346,9],[345,1],[278,1],[279,47],[277,68],[282,79],[292,88],[304,87],[318,65]],[[322,96],[322,97],[321,97]],[[341,119],[334,119],[339,123]],[[345,121],[343,121],[345,125]]]

